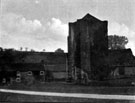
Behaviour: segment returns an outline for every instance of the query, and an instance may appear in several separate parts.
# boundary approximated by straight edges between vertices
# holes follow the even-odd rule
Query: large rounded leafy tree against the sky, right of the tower
[[[128,38],[125,36],[109,35],[108,46],[109,49],[125,49],[125,45],[128,43]]]

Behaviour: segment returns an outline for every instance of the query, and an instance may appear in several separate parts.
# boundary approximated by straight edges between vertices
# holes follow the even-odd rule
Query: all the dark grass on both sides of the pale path
[[[0,88],[13,90],[29,90],[41,92],[65,92],[65,93],[92,93],[92,94],[123,94],[135,95],[135,87],[104,87],[84,86],[67,83],[35,83],[32,85],[15,84],[1,86]],[[123,100],[97,100],[69,97],[31,96],[13,93],[0,93],[0,102],[90,102],[90,103],[135,103],[135,101]]]

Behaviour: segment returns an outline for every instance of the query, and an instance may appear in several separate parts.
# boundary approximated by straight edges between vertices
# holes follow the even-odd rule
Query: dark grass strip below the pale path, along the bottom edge
[[[3,98],[1,98],[1,96]],[[89,102],[89,103],[135,103],[135,101],[124,100],[100,100],[68,97],[30,96],[20,94],[0,93],[1,103],[6,102]]]

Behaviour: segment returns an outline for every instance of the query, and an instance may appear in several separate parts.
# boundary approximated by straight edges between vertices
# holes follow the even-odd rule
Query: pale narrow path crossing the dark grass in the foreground
[[[58,96],[58,97],[75,97],[75,98],[90,98],[90,99],[114,99],[114,100],[135,100],[135,95],[105,95],[105,94],[86,94],[86,93],[58,93],[58,92],[37,92],[37,91],[22,91],[0,89],[4,93],[17,93],[25,95],[39,96]]]

